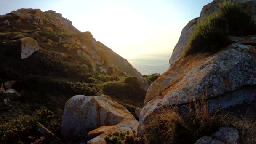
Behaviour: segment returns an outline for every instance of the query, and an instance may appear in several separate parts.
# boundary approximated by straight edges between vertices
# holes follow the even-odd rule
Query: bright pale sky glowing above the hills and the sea
[[[124,58],[169,54],[182,28],[212,0],[0,0],[0,15],[19,8],[53,10]]]

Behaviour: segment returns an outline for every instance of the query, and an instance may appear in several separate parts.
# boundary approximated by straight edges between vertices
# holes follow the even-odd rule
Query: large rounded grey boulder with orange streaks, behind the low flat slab
[[[61,135],[87,135],[88,131],[103,125],[116,125],[127,118],[134,117],[109,96],[73,96],[64,108]]]

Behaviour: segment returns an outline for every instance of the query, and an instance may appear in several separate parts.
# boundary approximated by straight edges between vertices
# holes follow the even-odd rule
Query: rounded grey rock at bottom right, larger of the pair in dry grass
[[[222,127],[212,137],[225,144],[236,144],[239,141],[239,132],[236,128]]]

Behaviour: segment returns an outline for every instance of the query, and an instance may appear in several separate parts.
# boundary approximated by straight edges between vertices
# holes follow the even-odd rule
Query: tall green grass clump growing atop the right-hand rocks
[[[242,5],[223,1],[215,13],[200,19],[189,36],[183,56],[197,52],[217,52],[232,43],[228,35],[251,35],[256,33],[252,12],[245,12]]]

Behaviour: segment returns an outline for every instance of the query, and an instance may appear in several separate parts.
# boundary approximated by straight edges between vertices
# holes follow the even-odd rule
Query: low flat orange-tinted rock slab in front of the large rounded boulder
[[[91,139],[90,141],[87,142],[87,144],[106,144],[104,138],[111,133],[116,133],[116,132],[126,132],[126,131],[135,131],[135,134],[137,133],[137,128],[138,128],[139,122],[133,118],[125,119],[118,123],[115,126],[112,127],[100,127],[96,130],[90,131],[88,133],[88,136],[96,136],[95,138]]]

